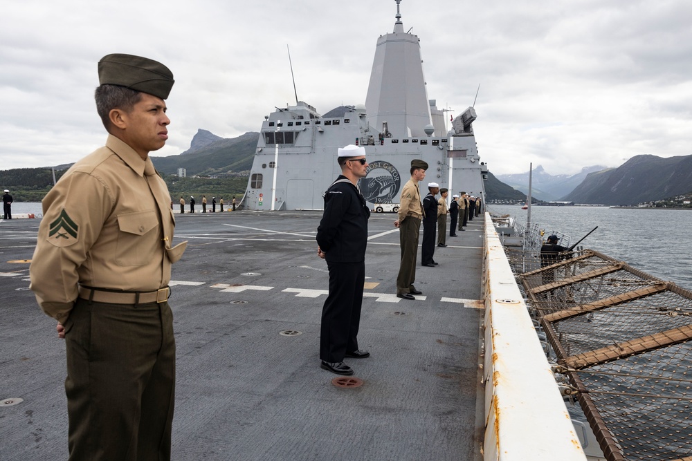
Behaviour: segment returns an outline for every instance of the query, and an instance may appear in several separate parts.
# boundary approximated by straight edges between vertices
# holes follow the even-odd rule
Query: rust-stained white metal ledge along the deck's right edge
[[[489,214],[484,229],[485,461],[586,460]]]

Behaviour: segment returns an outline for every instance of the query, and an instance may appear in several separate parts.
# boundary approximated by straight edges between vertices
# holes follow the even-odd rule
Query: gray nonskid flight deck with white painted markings
[[[361,348],[347,359],[358,388],[319,368],[328,286],[316,256],[315,211],[178,216],[174,265],[177,341],[175,460],[474,460],[482,311],[482,220],[417,268],[425,299],[394,297],[399,234],[394,214],[373,214],[366,256]],[[33,254],[37,221],[0,223],[0,274]],[[24,232],[24,234],[22,234]],[[24,271],[24,272],[21,272]],[[3,331],[1,460],[67,457],[64,343],[26,290],[0,277]],[[375,285],[376,284],[376,285]],[[294,332],[284,336],[281,332]],[[300,334],[295,334],[300,332]],[[482,407],[482,405],[480,405]]]

